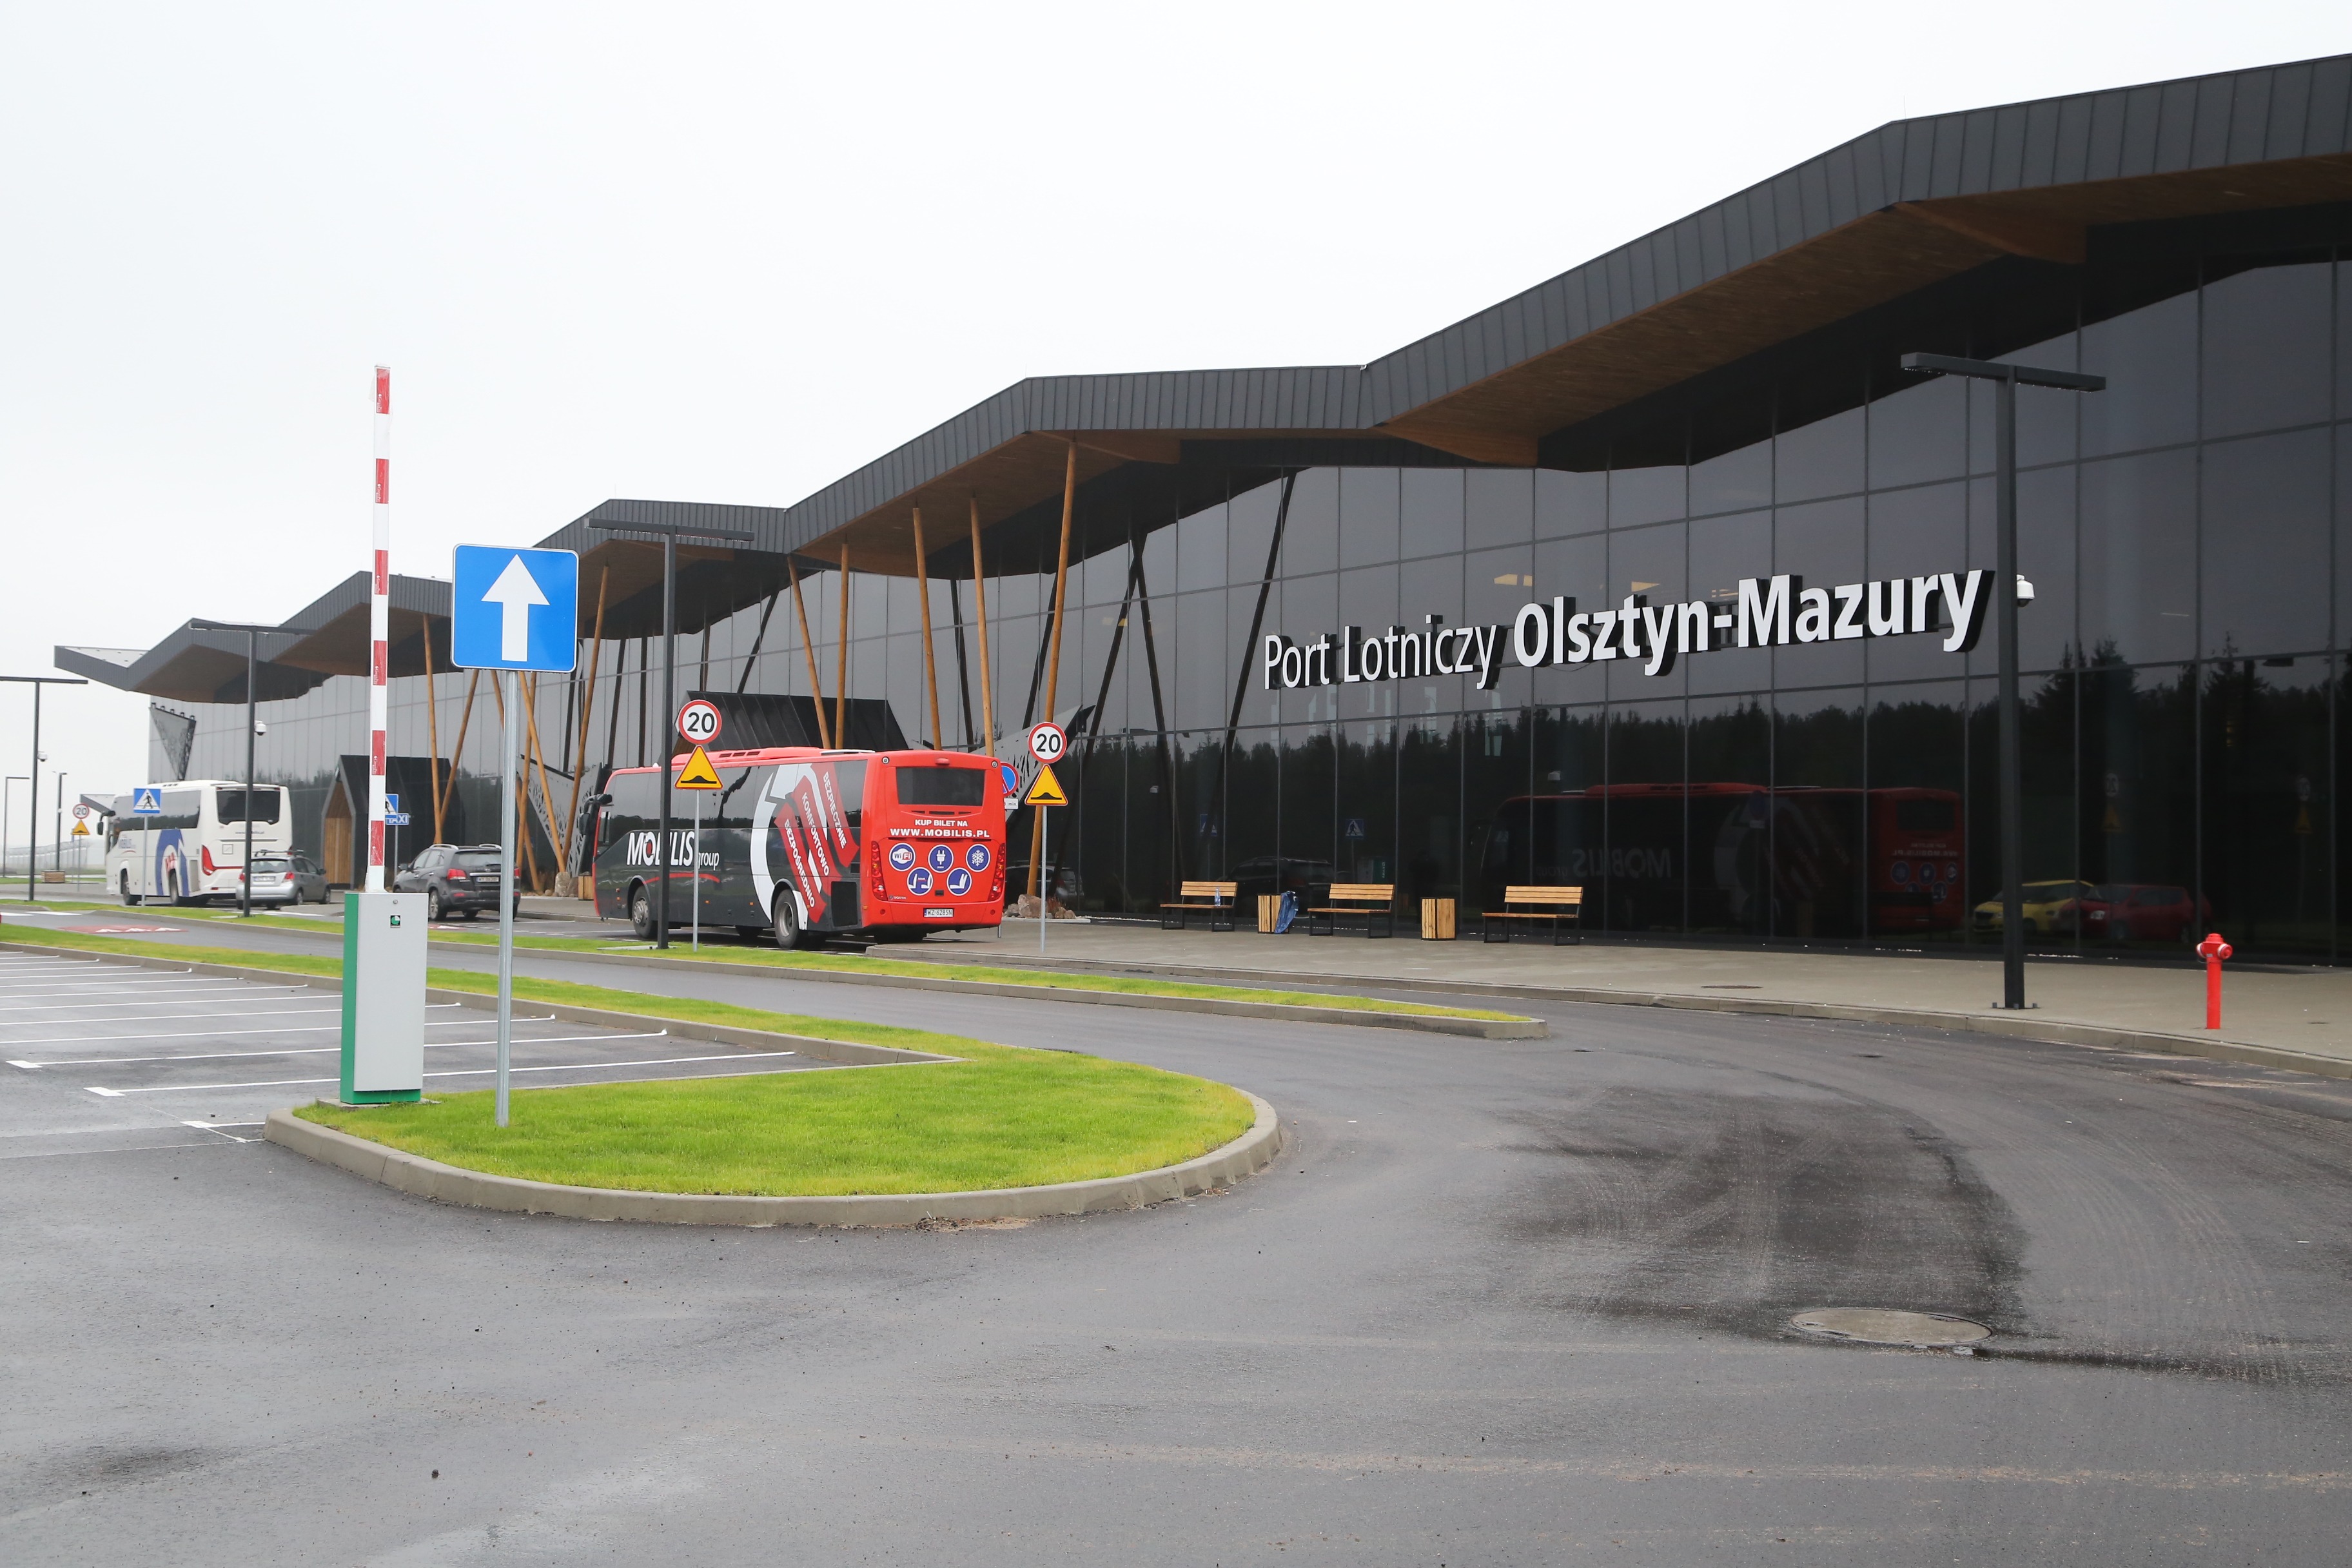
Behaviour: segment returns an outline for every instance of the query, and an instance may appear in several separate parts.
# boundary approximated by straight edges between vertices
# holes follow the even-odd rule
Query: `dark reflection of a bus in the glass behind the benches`
[[[1609,931],[1900,936],[1959,931],[1964,863],[1952,790],[1623,783],[1505,799],[1472,896],[1583,886]]]

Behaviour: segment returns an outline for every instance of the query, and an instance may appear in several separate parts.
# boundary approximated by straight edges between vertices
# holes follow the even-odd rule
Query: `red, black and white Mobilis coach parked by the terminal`
[[[684,762],[673,757],[673,773]],[[779,947],[1002,924],[1004,792],[988,757],[793,745],[710,752],[710,764],[722,788],[670,790],[668,853],[659,769],[621,769],[604,785],[600,917],[626,917],[652,938],[668,867],[670,926],[771,933]]]

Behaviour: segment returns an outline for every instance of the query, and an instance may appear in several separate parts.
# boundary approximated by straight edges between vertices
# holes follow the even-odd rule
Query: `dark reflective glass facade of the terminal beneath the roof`
[[[1971,651],[1717,632],[1656,675],[1642,658],[1503,658],[1491,684],[1404,661],[1392,679],[1270,691],[1256,658],[1265,635],[1312,644],[1348,625],[1508,637],[1522,604],[1555,595],[1729,616],[1743,578],[1990,569],[1990,390],[1896,360],[2013,357],[2110,378],[2018,397],[2037,590],[2020,614],[2027,879],[2096,889],[2034,943],[2178,945],[2218,924],[2246,954],[2336,961],[2352,252],[2249,252],[2220,226],[2110,252],[1980,268],[1552,437],[1541,468],[1254,468],[1185,515],[1082,505],[1058,672],[1049,574],[988,583],[988,672],[971,583],[934,578],[946,743],[981,745],[983,677],[1000,752],[1047,717],[1049,686],[1054,717],[1084,710],[1051,858],[1101,912],[1152,912],[1181,877],[1244,893],[1395,882],[1470,907],[1505,882],[1578,882],[1592,931],[1997,947],[1978,917],[1999,896],[1990,632]],[[830,689],[837,595],[807,597]],[[1851,614],[1886,611],[1870,597]],[[849,618],[851,696],[887,698],[927,736],[915,581],[854,578]],[[807,691],[790,595],[753,658],[757,625],[753,609],[708,644],[682,637],[680,689]],[[586,672],[541,686],[557,816],[583,752],[659,755],[647,651],[604,646],[586,715]],[[442,755],[466,691],[463,675],[437,682]],[[355,679],[266,708],[270,776],[296,785],[303,832],[365,733],[355,715]],[[200,717],[191,773],[235,776],[242,715]],[[461,755],[475,835],[496,820],[496,726],[485,684]],[[393,750],[428,752],[423,682],[397,682]],[[536,776],[532,790],[536,806]],[[1016,823],[1021,856],[1028,832]]]

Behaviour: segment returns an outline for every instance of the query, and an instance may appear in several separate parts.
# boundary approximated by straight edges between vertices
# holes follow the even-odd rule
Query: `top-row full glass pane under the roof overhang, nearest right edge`
[[[2204,435],[2328,416],[2333,268],[2265,266],[2204,287]]]

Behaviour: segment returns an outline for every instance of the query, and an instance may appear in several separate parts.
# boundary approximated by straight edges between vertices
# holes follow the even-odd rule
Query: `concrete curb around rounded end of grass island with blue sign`
[[[1247,1093],[1247,1091],[1244,1091]],[[273,1110],[263,1135],[320,1164],[383,1182],[395,1192],[503,1213],[550,1213],[572,1220],[644,1220],[656,1225],[922,1225],[924,1220],[1035,1220],[1058,1213],[1143,1208],[1169,1199],[1230,1187],[1272,1164],[1282,1152],[1282,1119],[1275,1107],[1249,1095],[1258,1117],[1247,1133],[1181,1166],[1108,1175],[1051,1187],[1002,1187],[995,1192],[908,1192],[854,1197],[722,1197],[699,1192],[623,1192],[614,1187],[564,1187],[527,1182],[445,1166],[421,1154],[388,1150],[332,1126],[303,1121],[292,1110]]]

